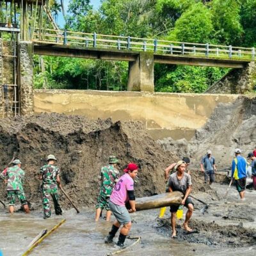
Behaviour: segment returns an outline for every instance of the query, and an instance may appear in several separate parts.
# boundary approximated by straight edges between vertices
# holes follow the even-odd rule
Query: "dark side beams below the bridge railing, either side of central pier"
[[[34,44],[34,53],[40,55],[90,58],[97,60],[135,61],[140,51],[122,51],[118,49],[100,49],[79,47],[76,45]],[[152,52],[153,53],[153,52]],[[243,68],[250,60],[232,60],[230,58],[211,58],[182,54],[154,53],[155,63],[193,65],[202,67]]]

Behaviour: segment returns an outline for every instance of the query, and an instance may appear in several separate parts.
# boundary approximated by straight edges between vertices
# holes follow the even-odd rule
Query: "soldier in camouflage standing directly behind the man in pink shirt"
[[[119,179],[120,174],[116,169],[118,159],[115,156],[109,156],[108,166],[103,166],[99,173],[100,180],[100,193],[97,199],[95,221],[100,218],[102,209],[106,209],[106,220],[110,220],[111,211],[109,208],[109,198],[116,181]]]

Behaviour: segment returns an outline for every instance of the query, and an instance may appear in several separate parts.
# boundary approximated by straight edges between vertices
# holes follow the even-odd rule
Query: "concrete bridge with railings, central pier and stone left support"
[[[7,30],[15,33],[18,38],[19,29],[0,26],[0,32]],[[59,29],[35,29],[29,41],[16,40],[9,43],[0,38],[2,117],[26,115],[34,111],[33,54],[128,61],[127,88],[128,91],[136,92],[154,92],[154,63],[239,70],[236,76],[239,90],[228,89],[227,93],[243,93],[240,81],[243,84],[253,84],[252,77],[256,77],[256,74],[251,76],[252,70],[256,70],[252,65],[254,48],[97,35]],[[225,79],[228,80],[228,76]],[[221,86],[227,87],[226,83]],[[214,90],[212,92],[216,93]]]

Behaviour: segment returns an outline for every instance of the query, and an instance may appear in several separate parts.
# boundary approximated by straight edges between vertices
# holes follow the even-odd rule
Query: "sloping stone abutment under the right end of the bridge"
[[[205,93],[246,93],[256,88],[256,65],[252,61],[244,68],[234,68]]]

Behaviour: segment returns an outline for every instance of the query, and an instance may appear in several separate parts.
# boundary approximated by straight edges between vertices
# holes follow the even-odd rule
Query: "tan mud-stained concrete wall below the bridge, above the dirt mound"
[[[219,103],[239,95],[35,90],[35,112],[140,120],[156,138],[190,139]]]

